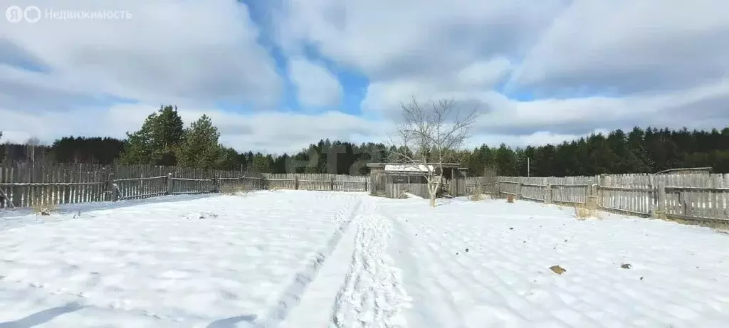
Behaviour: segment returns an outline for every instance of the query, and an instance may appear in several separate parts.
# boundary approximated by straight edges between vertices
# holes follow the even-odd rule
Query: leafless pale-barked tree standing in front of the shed
[[[421,172],[428,184],[430,206],[443,183],[443,164],[448,163],[470,136],[478,112],[461,116],[454,100],[430,102],[424,107],[413,97],[401,104],[403,121],[397,127],[397,140],[391,138],[391,160],[408,171]]]

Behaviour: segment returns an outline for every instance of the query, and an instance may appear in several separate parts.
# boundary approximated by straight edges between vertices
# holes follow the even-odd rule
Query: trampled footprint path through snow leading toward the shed
[[[374,205],[367,208],[373,211]],[[408,306],[400,270],[386,254],[391,222],[384,216],[359,220],[354,237],[350,272],[332,308],[332,326],[338,328],[405,327],[400,312]]]

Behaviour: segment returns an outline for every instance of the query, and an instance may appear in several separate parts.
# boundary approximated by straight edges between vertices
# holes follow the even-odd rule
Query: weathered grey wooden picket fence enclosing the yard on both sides
[[[389,184],[386,195],[428,197],[426,184]],[[149,198],[157,195],[291,189],[366,192],[368,176],[246,173],[152,165],[0,165],[0,208]],[[635,216],[729,219],[729,174],[491,176],[446,180],[453,196],[476,190],[544,203],[594,203]]]

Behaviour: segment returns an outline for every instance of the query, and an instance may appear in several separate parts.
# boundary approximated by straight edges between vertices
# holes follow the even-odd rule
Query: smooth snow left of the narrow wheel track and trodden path
[[[0,230],[0,327],[275,324],[361,200],[254,192],[12,224]]]

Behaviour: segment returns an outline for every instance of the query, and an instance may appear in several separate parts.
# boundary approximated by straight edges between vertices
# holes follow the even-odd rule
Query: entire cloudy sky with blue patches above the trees
[[[42,12],[0,17],[0,130],[13,141],[123,137],[177,104],[188,122],[211,116],[226,145],[280,153],[384,141],[412,95],[477,106],[472,144],[729,126],[726,0],[0,4]],[[64,10],[120,19],[49,15]]]

